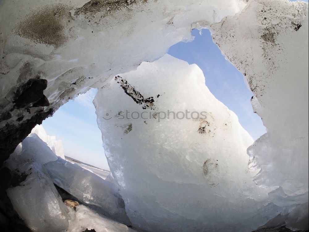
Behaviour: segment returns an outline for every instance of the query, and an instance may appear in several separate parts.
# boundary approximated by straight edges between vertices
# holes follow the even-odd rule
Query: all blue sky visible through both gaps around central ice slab
[[[253,113],[250,99],[252,92],[247,88],[243,75],[221,54],[210,36],[209,30],[193,30],[193,42],[173,45],[168,54],[196,63],[205,75],[205,84],[230,110],[239,117],[241,125],[257,139],[265,133],[260,117]],[[65,155],[85,163],[109,170],[101,132],[96,123],[92,100],[96,89],[70,100],[43,122],[48,135],[56,135],[63,141]]]

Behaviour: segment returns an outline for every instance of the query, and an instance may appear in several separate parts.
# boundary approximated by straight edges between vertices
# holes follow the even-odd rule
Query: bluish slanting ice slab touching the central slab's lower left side
[[[53,182],[98,212],[130,224],[115,184],[61,158],[45,164]]]

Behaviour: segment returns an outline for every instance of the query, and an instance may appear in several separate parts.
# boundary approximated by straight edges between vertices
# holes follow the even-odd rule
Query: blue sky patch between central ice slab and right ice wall
[[[261,118],[253,113],[250,99],[253,96],[245,84],[243,75],[221,54],[212,41],[210,31],[203,29],[202,35],[193,30],[193,42],[180,42],[171,46],[168,54],[197,64],[204,73],[205,84],[210,92],[238,116],[240,124],[253,139],[265,134]]]

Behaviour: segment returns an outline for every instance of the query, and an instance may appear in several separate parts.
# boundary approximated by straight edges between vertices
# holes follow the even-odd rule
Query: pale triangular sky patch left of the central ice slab
[[[92,88],[70,100],[45,119],[42,126],[46,133],[62,140],[66,157],[109,170],[92,103],[96,92]]]

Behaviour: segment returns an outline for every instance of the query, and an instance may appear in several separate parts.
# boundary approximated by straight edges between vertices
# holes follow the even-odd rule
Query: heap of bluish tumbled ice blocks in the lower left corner
[[[26,225],[42,232],[75,232],[86,228],[95,228],[97,232],[134,231],[121,224],[129,225],[130,221],[116,185],[57,157],[36,133],[40,137],[46,135],[43,127],[37,127],[5,162],[14,173],[7,195]],[[54,184],[95,211],[83,205],[72,211],[62,202]]]

